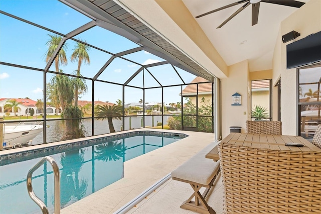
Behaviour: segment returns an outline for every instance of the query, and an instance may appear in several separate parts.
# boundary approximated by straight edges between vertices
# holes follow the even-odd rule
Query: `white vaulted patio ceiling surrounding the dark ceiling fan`
[[[193,17],[238,2],[237,0],[182,1]],[[297,1],[306,3],[309,0]],[[217,29],[243,5],[245,3],[195,19],[227,65],[248,59],[250,71],[272,69],[273,49],[280,23],[298,8],[261,2],[256,25],[251,25],[250,5]]]

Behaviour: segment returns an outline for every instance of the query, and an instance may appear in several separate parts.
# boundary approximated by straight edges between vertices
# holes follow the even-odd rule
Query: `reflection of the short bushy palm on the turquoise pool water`
[[[110,141],[107,143],[98,144],[95,146],[97,160],[102,161],[116,161],[124,157],[124,151],[126,147],[123,148],[122,143],[118,141]]]

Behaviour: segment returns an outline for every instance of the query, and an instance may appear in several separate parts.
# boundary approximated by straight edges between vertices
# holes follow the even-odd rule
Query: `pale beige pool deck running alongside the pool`
[[[213,133],[200,133],[174,130],[139,129],[184,133],[189,135],[182,140],[153,150],[124,162],[124,178],[104,187],[97,192],[63,208],[61,213],[114,213],[148,187],[164,178],[190,157],[214,142]],[[137,131],[137,130],[135,130]],[[221,181],[219,181],[221,183]],[[221,184],[216,185],[210,197],[218,193],[222,197]],[[218,191],[216,191],[218,189]],[[189,184],[169,179],[149,196],[132,207],[127,213],[194,213],[179,206],[193,190]],[[212,200],[211,200],[212,201]],[[213,203],[222,204],[222,199],[213,199]],[[212,205],[212,202],[210,203]],[[221,213],[220,209],[216,213]]]

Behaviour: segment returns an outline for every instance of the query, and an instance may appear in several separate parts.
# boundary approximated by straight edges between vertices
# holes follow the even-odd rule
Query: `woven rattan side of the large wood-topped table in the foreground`
[[[321,151],[219,144],[226,214],[321,213]]]

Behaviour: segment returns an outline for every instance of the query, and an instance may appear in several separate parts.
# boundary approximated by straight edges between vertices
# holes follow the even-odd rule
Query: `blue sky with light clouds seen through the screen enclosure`
[[[67,34],[92,20],[57,0],[0,0],[0,10],[41,25],[56,32]],[[29,25],[22,21],[0,14],[0,61],[32,68],[44,69],[46,67],[45,54],[48,49],[50,31]],[[75,37],[88,44],[106,50],[110,53],[119,53],[138,47],[137,44],[95,26]],[[75,42],[67,40],[66,54],[68,65],[60,66],[64,73],[73,74],[77,69],[77,62],[71,62],[70,56]],[[111,57],[103,51],[90,48],[90,64],[81,66],[81,74],[92,78]],[[124,56],[125,58],[145,65],[164,61],[146,51],[140,51]],[[124,83],[140,66],[124,59],[115,58],[104,72],[98,77],[100,80]],[[180,68],[178,72],[186,83],[191,82],[195,75]],[[49,69],[55,71],[54,65]],[[166,64],[148,69],[151,74],[163,85],[183,83],[175,73],[172,65]],[[47,74],[47,82],[55,74]],[[144,72],[145,87],[159,86],[147,72]],[[86,80],[88,92],[80,95],[80,100],[92,99],[92,83]],[[128,85],[142,87],[142,72],[140,72]],[[122,86],[95,82],[94,99],[116,102],[122,99]],[[0,65],[0,98],[25,98],[33,100],[43,98],[43,73],[24,68]],[[181,87],[164,88],[164,102],[181,101],[179,93]],[[125,87],[125,103],[138,102],[143,98],[142,90]],[[145,90],[145,102],[161,102],[162,89]]]

